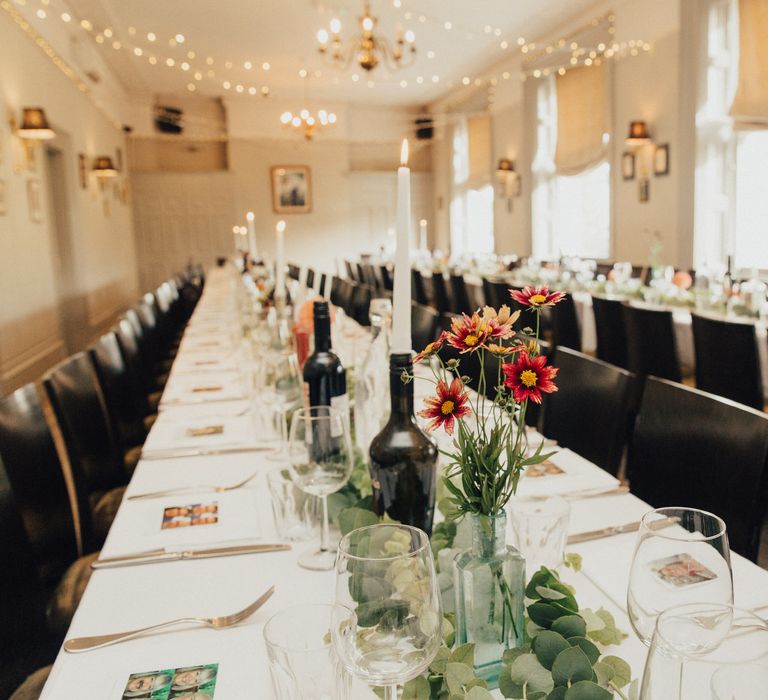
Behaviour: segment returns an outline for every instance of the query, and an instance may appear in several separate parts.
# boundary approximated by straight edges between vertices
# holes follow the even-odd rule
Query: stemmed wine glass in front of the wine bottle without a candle
[[[299,558],[299,565],[330,571],[336,551],[328,546],[328,494],[352,475],[352,443],[347,416],[330,406],[310,406],[293,413],[288,438],[291,479],[306,493],[319,496],[323,507],[320,549]]]

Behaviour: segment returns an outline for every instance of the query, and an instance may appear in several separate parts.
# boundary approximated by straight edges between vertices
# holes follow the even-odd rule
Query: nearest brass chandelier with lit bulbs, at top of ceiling
[[[366,0],[363,14],[358,18],[360,33],[351,37],[346,45],[341,39],[341,21],[334,17],[328,29],[317,33],[320,53],[328,61],[341,69],[347,68],[352,61],[365,71],[372,71],[379,63],[385,63],[390,69],[405,68],[413,63],[416,56],[416,38],[409,29],[397,33],[394,44],[390,44],[381,35],[376,34],[378,19],[371,14],[371,4]]]

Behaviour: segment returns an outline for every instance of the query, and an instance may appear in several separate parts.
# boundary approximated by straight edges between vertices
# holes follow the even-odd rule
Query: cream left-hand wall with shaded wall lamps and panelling
[[[36,165],[27,168],[10,132],[8,118],[18,120],[25,106],[43,107],[56,130],[47,147],[61,153],[65,210],[50,206],[43,148],[37,147]],[[87,156],[89,167],[97,155],[114,158],[118,148],[125,149],[123,134],[6,11],[0,11],[0,112],[0,181],[6,190],[6,213],[0,214],[0,391],[5,392],[85,347],[134,301],[138,287],[130,206],[112,185],[101,191],[92,177],[86,189],[78,183],[78,154]],[[30,219],[30,181],[39,182],[40,222]],[[70,240],[61,255],[55,217],[69,223]],[[62,258],[72,261],[63,285],[57,281]],[[62,309],[69,347],[59,323]]]

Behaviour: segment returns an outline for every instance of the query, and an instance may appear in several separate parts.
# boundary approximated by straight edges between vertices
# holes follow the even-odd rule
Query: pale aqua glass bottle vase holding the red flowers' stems
[[[475,645],[475,675],[498,685],[501,657],[523,644],[525,560],[507,545],[507,515],[470,515],[472,547],[454,559],[456,645]]]

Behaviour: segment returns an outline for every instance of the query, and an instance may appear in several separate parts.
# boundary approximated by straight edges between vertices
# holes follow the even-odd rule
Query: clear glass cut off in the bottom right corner
[[[753,700],[765,692],[765,680],[757,682],[761,669],[765,679],[765,620],[721,603],[675,606],[656,621],[640,700],[704,700],[712,695],[718,700]],[[749,671],[755,674],[754,684],[743,694],[734,679]]]

